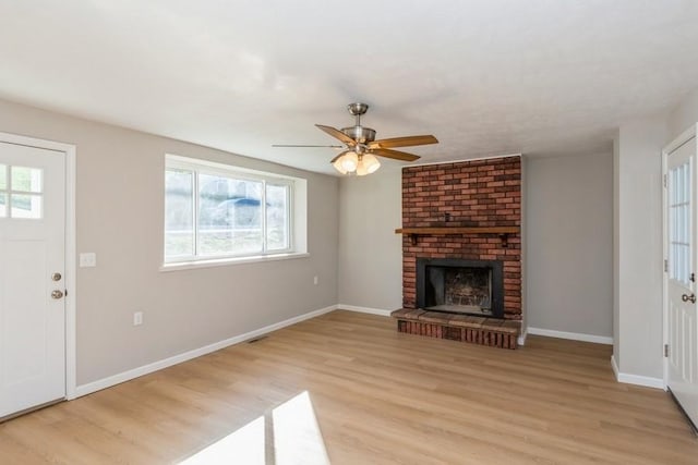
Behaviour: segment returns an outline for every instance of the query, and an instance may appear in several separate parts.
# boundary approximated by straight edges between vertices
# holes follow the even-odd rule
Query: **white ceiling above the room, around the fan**
[[[424,162],[607,150],[698,87],[694,0],[0,0],[0,98],[332,173],[313,126]],[[394,161],[390,161],[396,163]]]

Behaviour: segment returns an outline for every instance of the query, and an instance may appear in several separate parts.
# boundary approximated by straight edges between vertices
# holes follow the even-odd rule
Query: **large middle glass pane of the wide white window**
[[[202,255],[262,252],[262,183],[198,175],[198,250]]]

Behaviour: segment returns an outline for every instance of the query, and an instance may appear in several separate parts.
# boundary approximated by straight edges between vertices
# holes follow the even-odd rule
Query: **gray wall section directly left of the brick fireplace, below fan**
[[[384,161],[339,184],[339,303],[380,310],[402,306],[402,176]]]

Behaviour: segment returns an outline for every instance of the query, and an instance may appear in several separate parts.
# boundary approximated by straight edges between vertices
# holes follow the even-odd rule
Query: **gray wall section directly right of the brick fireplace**
[[[612,155],[526,163],[528,326],[611,338]]]

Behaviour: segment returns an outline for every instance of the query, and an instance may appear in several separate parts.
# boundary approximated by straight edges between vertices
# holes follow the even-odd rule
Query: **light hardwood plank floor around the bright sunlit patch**
[[[333,464],[698,464],[669,394],[616,383],[610,356],[400,334],[339,310],[7,421],[0,463],[179,463],[306,391]]]

